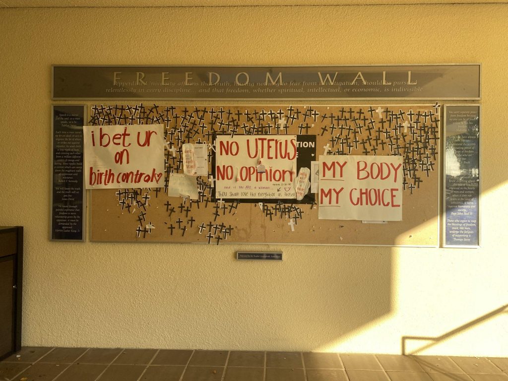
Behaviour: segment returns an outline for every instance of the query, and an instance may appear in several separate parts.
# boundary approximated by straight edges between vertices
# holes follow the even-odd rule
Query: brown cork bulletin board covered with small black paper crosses
[[[90,125],[163,124],[165,187],[94,189],[92,241],[415,245],[439,243],[440,105],[356,106],[94,104]],[[297,166],[320,155],[402,157],[402,220],[319,219],[311,189],[284,197],[216,197],[215,141],[241,135],[296,136]],[[226,138],[229,137],[229,138]],[[170,174],[183,173],[182,145],[208,145],[197,200],[168,196]],[[296,168],[298,171],[299,168]],[[282,190],[281,190],[282,192]]]

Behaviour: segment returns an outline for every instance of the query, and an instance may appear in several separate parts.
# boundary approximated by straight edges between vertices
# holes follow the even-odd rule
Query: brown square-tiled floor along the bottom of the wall
[[[0,381],[508,381],[508,359],[24,347]]]

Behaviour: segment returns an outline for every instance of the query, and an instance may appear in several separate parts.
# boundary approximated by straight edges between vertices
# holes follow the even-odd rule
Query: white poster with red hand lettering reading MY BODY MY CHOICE
[[[400,221],[402,156],[320,156],[319,218]]]

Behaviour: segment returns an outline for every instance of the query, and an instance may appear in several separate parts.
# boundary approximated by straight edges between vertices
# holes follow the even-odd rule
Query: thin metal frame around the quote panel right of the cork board
[[[479,184],[478,184],[478,245],[447,245],[446,244],[446,154],[442,156],[442,211],[441,211],[441,247],[444,248],[480,248],[482,246],[482,105],[480,103],[447,103],[443,107],[443,122],[442,122],[442,143],[441,151],[446,150],[446,137],[447,137],[447,123],[446,123],[446,109],[447,107],[478,107],[479,115],[479,130],[478,137],[478,165],[479,165]]]

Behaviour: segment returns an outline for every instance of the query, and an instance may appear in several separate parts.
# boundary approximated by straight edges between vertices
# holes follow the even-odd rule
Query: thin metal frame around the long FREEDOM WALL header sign
[[[277,65],[277,66],[267,66],[267,65],[51,65],[51,99],[54,101],[61,100],[73,100],[73,101],[93,101],[93,100],[104,100],[104,101],[114,101],[115,98],[59,98],[54,97],[54,68],[55,67],[120,67],[120,68],[154,68],[154,67],[188,67],[188,68],[209,68],[209,67],[217,67],[217,68],[346,68],[346,67],[433,67],[433,66],[478,66],[479,67],[479,94],[478,97],[431,97],[431,98],[421,98],[421,97],[387,97],[387,98],[379,98],[379,97],[358,97],[358,98],[338,98],[340,101],[398,101],[398,100],[406,100],[411,99],[415,101],[480,101],[482,99],[482,63],[481,62],[464,62],[464,63],[396,63],[396,64],[385,64],[385,63],[374,63],[374,64],[341,64],[341,65]],[[328,98],[312,98],[312,102],[320,102],[320,101],[330,101],[333,99],[332,97]],[[118,99],[119,100],[119,99]],[[151,98],[123,98],[122,101],[179,101],[179,102],[273,102],[279,101],[283,102],[294,102],[294,101],[304,101],[305,99],[302,97],[299,98],[279,98],[279,99],[270,99],[270,98],[220,98],[220,99],[207,99],[207,98],[178,98],[178,97],[151,97]]]

